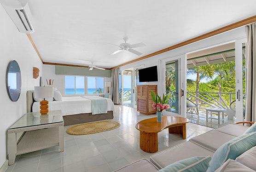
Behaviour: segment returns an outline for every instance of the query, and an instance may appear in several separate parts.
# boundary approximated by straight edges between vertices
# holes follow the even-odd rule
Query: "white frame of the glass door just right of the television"
[[[179,114],[168,112],[163,110],[163,115],[165,116],[180,116],[186,118],[186,54],[180,54],[176,55],[174,57],[166,57],[163,59],[160,59],[158,61],[159,64],[159,93],[158,95],[165,94],[165,72],[166,72],[166,62],[173,61],[173,60],[179,60],[179,92],[181,89],[184,92],[184,95],[181,97],[179,94]]]

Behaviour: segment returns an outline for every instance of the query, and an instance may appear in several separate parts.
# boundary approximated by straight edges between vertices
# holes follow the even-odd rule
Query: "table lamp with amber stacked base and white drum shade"
[[[44,98],[40,102],[40,113],[42,115],[47,114],[48,110],[48,101],[45,98],[53,97],[53,86],[35,86],[35,98]]]

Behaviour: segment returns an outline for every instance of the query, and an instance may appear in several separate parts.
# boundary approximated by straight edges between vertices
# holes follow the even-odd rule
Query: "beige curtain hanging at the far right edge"
[[[247,26],[245,121],[256,121],[256,23]]]

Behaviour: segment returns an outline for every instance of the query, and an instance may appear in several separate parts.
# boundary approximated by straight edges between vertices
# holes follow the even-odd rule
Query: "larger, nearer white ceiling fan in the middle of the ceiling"
[[[132,52],[132,53],[134,53],[134,54],[140,56],[142,53],[141,53],[141,52],[138,52],[138,51],[136,51],[136,50],[134,50],[134,49],[132,49],[132,48],[137,48],[137,47],[141,47],[141,46],[146,46],[143,42],[140,42],[140,43],[137,43],[137,44],[133,44],[133,45],[131,45],[131,44],[129,44],[129,43],[126,43],[126,41],[128,40],[128,38],[123,38],[123,40],[124,40],[125,43],[122,43],[122,44],[120,44],[120,45],[118,46],[120,49],[117,50],[116,52],[111,53],[110,55],[114,55],[114,54],[116,54],[116,53],[118,53],[118,52],[122,52],[122,51],[125,51],[125,52],[128,51],[128,52]],[[107,44],[111,44],[111,43],[107,43]],[[115,44],[111,44],[111,45],[117,46],[117,45],[115,45]]]

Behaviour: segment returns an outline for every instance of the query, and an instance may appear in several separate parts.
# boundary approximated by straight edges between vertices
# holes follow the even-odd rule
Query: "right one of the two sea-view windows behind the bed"
[[[103,77],[87,77],[87,94],[104,93]]]

